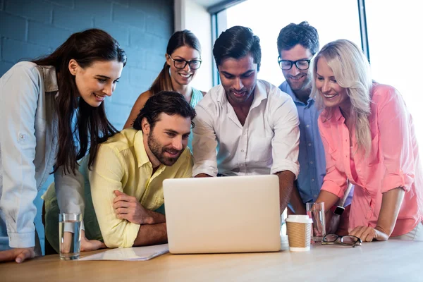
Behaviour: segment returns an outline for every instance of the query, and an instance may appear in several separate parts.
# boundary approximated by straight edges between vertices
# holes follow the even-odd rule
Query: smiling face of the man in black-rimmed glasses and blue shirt
[[[279,54],[279,56],[281,57],[281,60],[298,61],[309,60],[313,55],[309,49],[305,49],[302,45],[297,44],[289,50],[281,50],[281,54]],[[293,92],[312,89],[311,68],[308,68],[307,70],[300,70],[297,66],[295,66],[295,64],[293,64],[290,70],[282,71],[282,73]]]

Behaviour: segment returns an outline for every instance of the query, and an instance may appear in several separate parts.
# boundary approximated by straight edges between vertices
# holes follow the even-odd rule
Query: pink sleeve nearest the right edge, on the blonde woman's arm
[[[386,88],[386,94],[381,95],[384,102],[378,109],[380,147],[386,168],[381,192],[398,187],[408,192],[415,180],[412,120],[400,94],[393,87]]]

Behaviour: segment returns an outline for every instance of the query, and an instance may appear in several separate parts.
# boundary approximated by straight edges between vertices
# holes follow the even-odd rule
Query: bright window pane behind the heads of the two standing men
[[[234,25],[252,29],[262,47],[258,78],[276,86],[285,80],[278,66],[276,39],[289,23],[307,20],[319,32],[320,47],[340,38],[361,46],[357,0],[343,0],[342,4],[338,0],[247,0],[218,13],[217,20],[218,34]]]

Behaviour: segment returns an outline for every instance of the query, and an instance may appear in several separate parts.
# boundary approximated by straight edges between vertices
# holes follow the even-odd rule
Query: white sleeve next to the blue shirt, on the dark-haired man
[[[275,106],[275,105],[271,105]],[[295,178],[300,173],[298,152],[300,145],[300,121],[297,107],[289,97],[272,112],[274,138],[271,140],[273,164],[271,173],[291,171]]]

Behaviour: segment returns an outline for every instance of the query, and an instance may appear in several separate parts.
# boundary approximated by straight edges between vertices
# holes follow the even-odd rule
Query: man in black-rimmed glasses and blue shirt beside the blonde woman
[[[277,45],[278,64],[286,79],[279,86],[279,89],[288,93],[293,99],[300,118],[301,134],[298,156],[300,173],[295,181],[296,189],[293,190],[290,204],[295,207],[302,206],[300,209],[294,209],[293,212],[303,214],[304,204],[317,200],[323,178],[326,175],[324,147],[317,125],[319,110],[314,104],[314,99],[310,97],[312,92],[310,63],[314,54],[319,51],[319,35],[316,28],[306,21],[299,24],[290,23],[279,32]],[[353,195],[352,191],[350,195]],[[350,204],[351,197],[347,199],[345,204]],[[341,206],[344,206],[344,204],[340,203],[339,208],[333,209],[336,219],[339,219],[339,216],[343,214],[343,207]],[[342,226],[346,228],[348,222],[345,225],[344,218],[348,221],[347,213],[344,214],[344,222],[342,223]],[[336,228],[337,222],[333,222],[332,225],[335,226],[333,228]],[[336,230],[332,231],[335,232]],[[343,230],[343,232],[345,233],[346,230]]]

